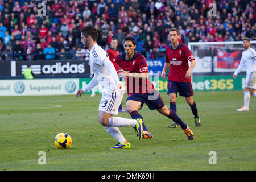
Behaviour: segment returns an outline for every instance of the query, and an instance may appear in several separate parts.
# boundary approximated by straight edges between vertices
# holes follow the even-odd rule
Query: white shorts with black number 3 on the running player
[[[102,93],[98,111],[118,115],[118,108],[122,102],[123,94],[124,92],[120,93],[118,89]]]

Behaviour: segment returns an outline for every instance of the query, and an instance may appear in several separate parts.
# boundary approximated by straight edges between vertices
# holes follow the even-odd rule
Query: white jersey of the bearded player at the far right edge
[[[256,71],[256,51],[253,48],[249,48],[242,53],[242,58],[240,64],[238,65],[236,71],[234,72],[235,75],[241,72],[242,68],[245,67],[246,74],[250,74],[251,72]]]

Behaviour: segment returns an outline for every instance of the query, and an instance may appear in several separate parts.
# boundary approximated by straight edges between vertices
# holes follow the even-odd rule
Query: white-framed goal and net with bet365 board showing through
[[[240,64],[245,50],[242,41],[188,43],[196,59],[193,68],[193,90],[242,90],[245,85],[245,68],[236,79],[232,75]],[[256,41],[250,41],[256,48]]]

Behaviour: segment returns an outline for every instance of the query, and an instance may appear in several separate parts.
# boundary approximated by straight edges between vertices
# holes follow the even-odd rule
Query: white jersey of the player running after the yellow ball
[[[102,88],[102,92],[110,92],[115,89],[114,78],[104,66],[104,61],[109,60],[109,56],[98,44],[94,44],[90,49],[90,68],[94,76],[97,77],[98,84]]]

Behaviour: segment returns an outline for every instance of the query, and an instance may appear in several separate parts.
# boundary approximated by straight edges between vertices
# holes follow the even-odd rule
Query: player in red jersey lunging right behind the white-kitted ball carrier
[[[167,108],[159,92],[154,89],[154,85],[150,82],[145,57],[141,53],[135,53],[136,40],[131,36],[127,36],[123,39],[123,48],[125,52],[115,57],[115,62],[121,68],[122,77],[125,78],[128,94],[126,107],[131,118],[143,119],[138,110],[145,103],[150,110],[156,109],[159,113],[179,123],[188,139],[192,140],[194,135],[187,124],[179,118],[174,110]],[[143,122],[143,138],[152,137]]]

